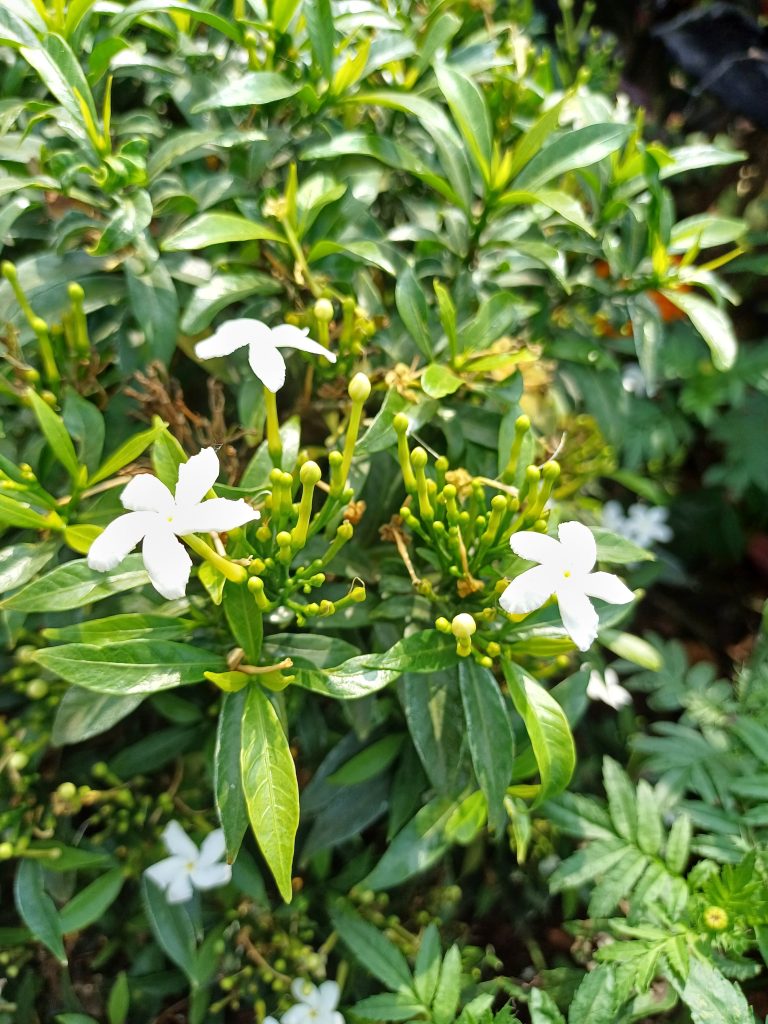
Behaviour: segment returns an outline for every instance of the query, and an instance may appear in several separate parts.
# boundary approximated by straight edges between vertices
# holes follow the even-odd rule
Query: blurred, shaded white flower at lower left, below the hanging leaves
[[[144,874],[160,886],[169,903],[185,903],[195,889],[218,889],[231,879],[231,867],[221,863],[224,856],[221,828],[206,836],[198,849],[178,821],[169,821],[163,842],[171,856],[147,867]]]

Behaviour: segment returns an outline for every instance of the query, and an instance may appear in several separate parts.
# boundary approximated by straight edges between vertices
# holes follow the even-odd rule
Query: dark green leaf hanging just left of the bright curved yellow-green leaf
[[[472,657],[459,663],[459,688],[472,765],[487,801],[488,822],[501,835],[507,823],[504,797],[512,780],[515,751],[507,708],[490,670]]]

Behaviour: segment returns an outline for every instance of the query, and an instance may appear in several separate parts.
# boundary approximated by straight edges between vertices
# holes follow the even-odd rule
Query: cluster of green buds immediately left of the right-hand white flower
[[[560,467],[554,460],[541,467],[527,464],[524,453],[531,440],[527,416],[518,417],[509,460],[495,480],[472,477],[461,469],[452,471],[444,456],[430,465],[424,447],[409,444],[408,417],[398,414],[393,426],[407,492],[399,520],[434,553],[438,572],[425,578],[417,574],[399,523],[390,524],[384,536],[397,544],[417,591],[436,609],[441,605],[451,609],[449,615],[436,617],[436,629],[456,637],[460,656],[472,654],[490,668],[509,625],[498,605],[507,582],[496,562],[508,554],[514,532],[546,531],[547,504]]]

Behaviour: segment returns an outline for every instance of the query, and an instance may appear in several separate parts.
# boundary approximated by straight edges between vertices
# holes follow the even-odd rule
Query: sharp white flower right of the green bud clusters
[[[559,541],[525,530],[513,534],[516,555],[540,562],[512,581],[499,599],[505,611],[526,614],[540,608],[552,594],[557,598],[565,632],[580,650],[587,650],[599,624],[591,597],[609,604],[627,604],[632,591],[611,572],[593,572],[597,547],[592,531],[581,522],[562,522]]]

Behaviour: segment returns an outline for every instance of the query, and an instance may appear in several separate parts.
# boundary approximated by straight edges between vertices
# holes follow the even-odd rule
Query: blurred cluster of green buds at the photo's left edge
[[[18,280],[13,263],[4,261],[2,275],[8,282],[18,308],[36,339],[35,365],[28,360],[28,353],[18,345],[14,336],[6,338],[6,358],[14,371],[16,386],[0,378],[0,386],[14,397],[22,397],[32,385],[44,401],[54,406],[61,389],[62,379],[77,380],[91,362],[91,342],[85,315],[85,293],[73,282],[68,286],[69,308],[59,323],[49,324],[39,316]]]

